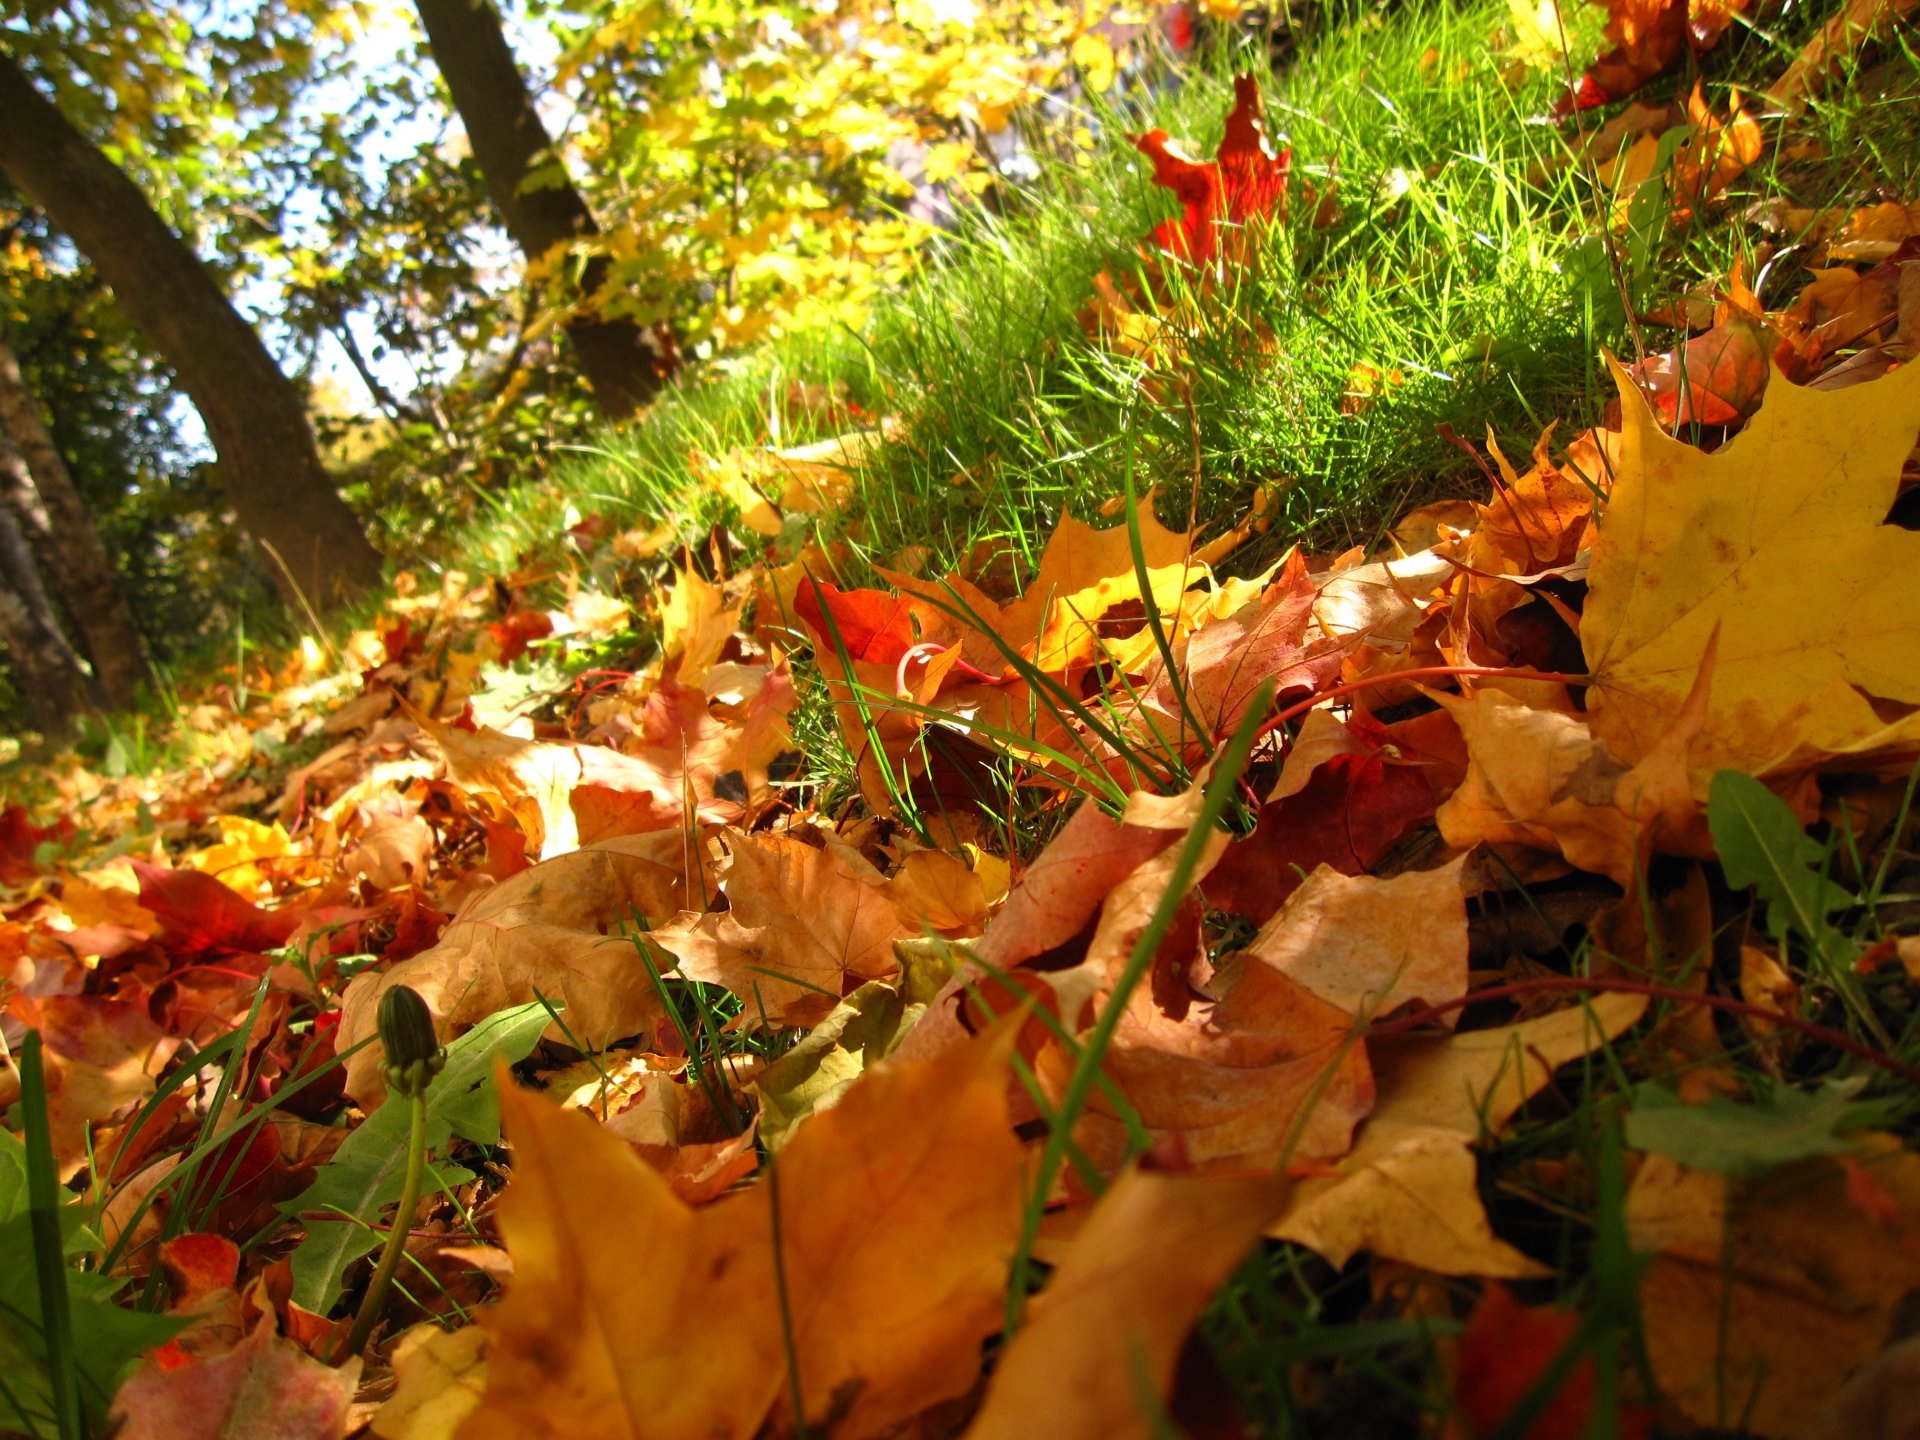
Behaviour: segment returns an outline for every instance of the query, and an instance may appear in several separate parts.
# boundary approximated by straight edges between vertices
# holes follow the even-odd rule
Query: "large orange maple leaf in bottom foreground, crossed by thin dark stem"
[[[780,1152],[806,1428],[858,1440],[964,1394],[1020,1235],[1008,1033],[858,1081]],[[501,1083],[515,1277],[461,1440],[745,1440],[795,1423],[770,1185],[689,1210],[591,1119]],[[828,1425],[831,1417],[831,1427]]]

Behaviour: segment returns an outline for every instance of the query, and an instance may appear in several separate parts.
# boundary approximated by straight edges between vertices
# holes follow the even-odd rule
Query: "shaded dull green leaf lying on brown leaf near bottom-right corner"
[[[1884,1125],[1887,1104],[1855,1100],[1864,1083],[1830,1081],[1812,1094],[1782,1085],[1755,1104],[1713,1094],[1697,1106],[1659,1085],[1642,1085],[1626,1116],[1626,1142],[1693,1169],[1763,1175],[1789,1160],[1853,1150],[1853,1131]]]

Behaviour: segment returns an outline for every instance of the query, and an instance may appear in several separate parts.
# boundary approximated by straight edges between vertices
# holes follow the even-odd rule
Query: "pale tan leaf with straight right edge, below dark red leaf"
[[[1356,1020],[1467,993],[1467,856],[1392,879],[1319,866],[1248,941],[1288,979]]]

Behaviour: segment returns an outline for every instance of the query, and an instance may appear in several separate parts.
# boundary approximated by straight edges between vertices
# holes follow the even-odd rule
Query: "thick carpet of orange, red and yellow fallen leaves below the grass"
[[[1284,205],[1252,84],[1227,136],[1140,140],[1169,265]],[[21,1428],[67,1365],[129,1438],[1229,1434],[1194,1325],[1267,1254],[1417,1342],[1409,1427],[1868,1432],[1832,1407],[1905,1382],[1920,1286],[1920,215],[1780,223],[1828,259],[1791,307],[1736,276],[1611,426],[1490,445],[1386,553],[1233,574],[1256,516],[1144,495],[1031,574],[856,576],[804,520],[885,434],[735,453],[764,561],[589,522],[563,607],[403,586],[207,707],[157,810],[6,810],[77,1260],[61,1359],[0,1139]],[[636,618],[559,712],[509,684]],[[407,1215],[394,985],[447,1044]],[[403,1294],[330,1365],[388,1225]],[[1354,1404],[1344,1354],[1302,1404]]]

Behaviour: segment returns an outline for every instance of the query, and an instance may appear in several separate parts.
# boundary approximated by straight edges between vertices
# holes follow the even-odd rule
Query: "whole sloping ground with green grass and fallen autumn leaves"
[[[1089,100],[10,764],[0,1432],[1910,1413],[1920,56],[1567,23]]]

